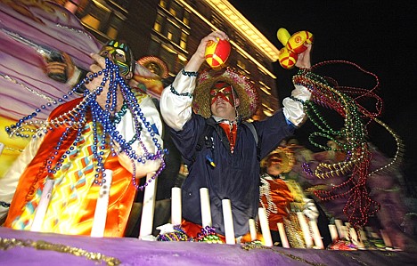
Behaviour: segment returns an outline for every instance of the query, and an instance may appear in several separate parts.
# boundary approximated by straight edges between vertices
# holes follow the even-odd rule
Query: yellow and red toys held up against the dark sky
[[[304,44],[313,43],[313,34],[307,30],[301,30],[290,36],[285,28],[278,29],[276,36],[282,45],[278,60],[284,69],[292,69],[298,60],[298,54],[306,51],[307,46]]]

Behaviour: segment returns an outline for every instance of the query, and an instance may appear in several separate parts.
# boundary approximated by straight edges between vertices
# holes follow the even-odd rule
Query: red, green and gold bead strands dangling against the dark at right
[[[372,90],[362,88],[339,86],[335,79],[331,77],[320,77],[311,72],[327,64],[343,63],[360,69],[365,74],[369,74],[376,80],[376,85]],[[315,171],[308,164],[303,164],[304,171],[310,175],[321,179],[345,175],[347,181],[339,185],[334,185],[329,190],[316,190],[315,195],[320,200],[334,200],[339,197],[347,197],[347,204],[343,211],[347,215],[348,222],[358,228],[368,222],[369,216],[375,214],[380,209],[380,204],[369,197],[369,189],[366,181],[369,176],[381,171],[388,171],[388,168],[397,166],[401,161],[403,144],[401,139],[377,117],[380,116],[382,101],[374,91],[379,87],[377,76],[368,72],[355,63],[345,60],[331,60],[316,64],[311,69],[300,69],[298,74],[293,77],[294,85],[304,85],[312,93],[310,101],[301,101],[305,112],[315,127],[317,132],[311,133],[309,141],[320,149],[341,151],[346,154],[346,159],[342,162],[333,164],[320,163]],[[375,100],[375,112],[369,111],[360,104],[367,98]],[[297,99],[294,99],[298,101]],[[344,119],[344,126],[340,130],[335,130],[320,113],[318,106],[335,110]],[[369,150],[367,139],[367,125],[371,122],[384,127],[397,142],[397,152],[395,157],[388,165],[384,165],[374,171],[370,171],[372,152]],[[335,141],[339,148],[319,144],[316,140]],[[344,140],[344,141],[339,141]]]

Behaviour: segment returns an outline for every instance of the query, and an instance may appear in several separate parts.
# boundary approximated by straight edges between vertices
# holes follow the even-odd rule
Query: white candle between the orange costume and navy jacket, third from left
[[[144,189],[143,193],[141,228],[139,230],[139,238],[143,240],[150,239],[147,237],[152,235],[153,212],[155,209],[155,192],[157,184],[157,178],[152,180],[152,176],[154,174],[155,172],[146,174],[146,182],[148,183],[148,185]]]

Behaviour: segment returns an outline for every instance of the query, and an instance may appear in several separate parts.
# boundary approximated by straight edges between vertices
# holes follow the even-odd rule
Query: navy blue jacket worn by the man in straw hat
[[[207,132],[206,124],[213,127],[210,131],[213,145],[197,151],[200,135]],[[258,214],[259,156],[266,157],[295,129],[287,123],[282,110],[252,125],[258,133],[259,150],[249,126],[239,124],[233,153],[224,130],[212,117],[205,119],[192,114],[183,130],[171,130],[189,171],[182,186],[185,220],[201,224],[200,188],[208,188],[212,226],[216,232],[225,235],[222,209],[222,199],[225,198],[230,199],[232,204],[235,237],[249,232],[249,219],[255,219]],[[215,167],[209,164],[208,157],[214,161]]]

